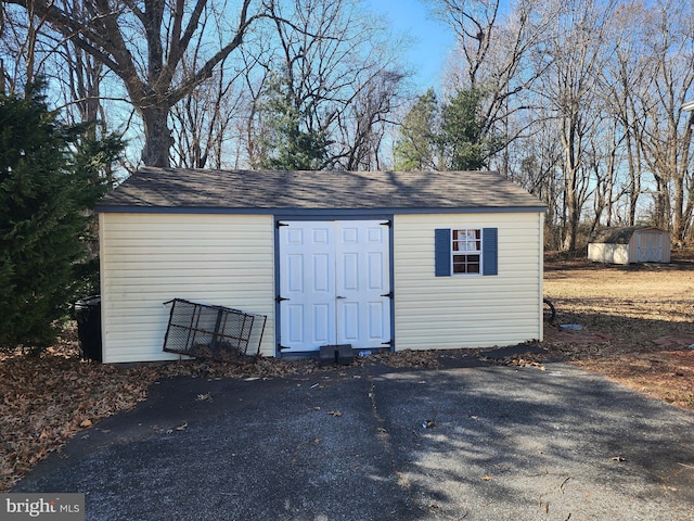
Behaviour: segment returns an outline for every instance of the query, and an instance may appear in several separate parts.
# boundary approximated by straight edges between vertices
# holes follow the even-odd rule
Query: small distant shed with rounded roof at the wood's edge
[[[670,234],[652,226],[605,228],[588,244],[588,258],[599,263],[669,263]]]

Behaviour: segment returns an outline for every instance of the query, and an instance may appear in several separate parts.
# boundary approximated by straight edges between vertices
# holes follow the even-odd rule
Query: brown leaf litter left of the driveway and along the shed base
[[[376,363],[432,368],[438,367],[438,355],[412,351],[381,353],[368,358],[356,357],[354,365]],[[162,379],[185,376],[208,381],[223,378],[252,381],[325,371],[344,371],[344,366],[323,367],[314,359],[285,361],[264,357],[253,364],[185,360],[129,368],[103,365],[80,359],[76,326],[69,323],[56,344],[38,356],[21,351],[0,354],[0,440],[3,441],[0,492],[9,491],[36,463],[61,450],[70,437],[103,418],[145,401],[149,387]],[[198,394],[195,399],[213,402],[213,396]],[[337,409],[327,414],[335,418],[343,416]],[[183,423],[163,432],[171,434],[187,429],[188,423]]]

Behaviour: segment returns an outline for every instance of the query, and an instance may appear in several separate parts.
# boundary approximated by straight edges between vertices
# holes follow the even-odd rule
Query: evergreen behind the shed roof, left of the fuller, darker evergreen
[[[439,169],[440,151],[437,138],[438,102],[434,89],[420,96],[402,119],[400,136],[395,144],[395,169]]]

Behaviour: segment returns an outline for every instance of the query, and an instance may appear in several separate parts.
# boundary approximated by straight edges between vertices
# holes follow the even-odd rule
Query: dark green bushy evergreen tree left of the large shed
[[[50,345],[78,296],[90,209],[106,183],[43,96],[0,93],[0,347]]]

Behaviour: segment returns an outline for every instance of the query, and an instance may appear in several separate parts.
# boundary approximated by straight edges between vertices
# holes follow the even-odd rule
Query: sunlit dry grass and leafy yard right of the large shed
[[[694,410],[694,252],[671,265],[550,260],[544,293],[558,323],[545,346],[586,369]]]

